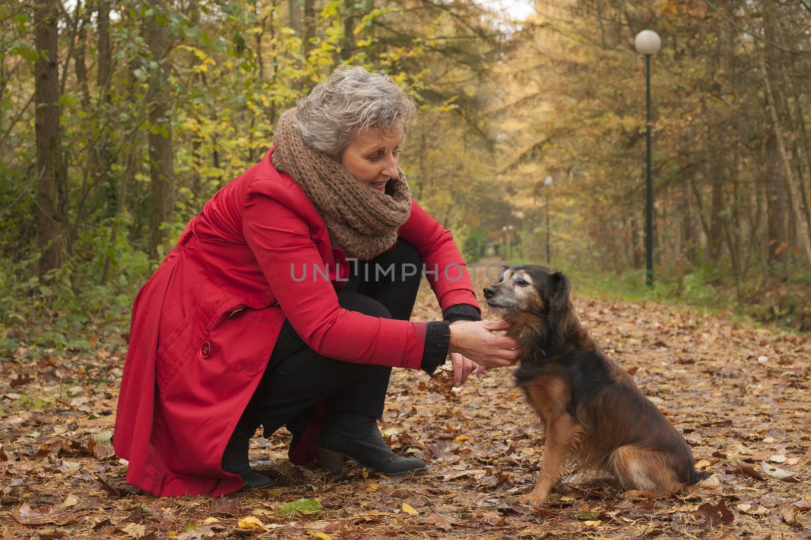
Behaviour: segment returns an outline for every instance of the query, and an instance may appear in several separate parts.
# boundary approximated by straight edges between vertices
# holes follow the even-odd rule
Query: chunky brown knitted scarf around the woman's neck
[[[333,247],[347,257],[371,259],[397,241],[397,229],[411,211],[411,191],[403,172],[385,192],[354,179],[336,159],[302,141],[294,127],[295,109],[282,114],[273,136],[272,161],[301,186],[327,225]]]

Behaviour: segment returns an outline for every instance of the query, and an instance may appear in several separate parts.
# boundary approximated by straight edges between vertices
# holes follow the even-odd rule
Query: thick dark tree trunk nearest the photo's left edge
[[[62,266],[66,253],[67,170],[62,160],[59,125],[58,22],[56,0],[35,6],[36,49],[43,55],[34,64],[36,102],[36,245],[42,251],[39,274]]]

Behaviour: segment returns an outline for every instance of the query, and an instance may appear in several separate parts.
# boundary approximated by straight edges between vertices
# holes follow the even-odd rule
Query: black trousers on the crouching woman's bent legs
[[[417,299],[422,261],[413,245],[398,240],[393,251],[351,267],[349,281],[337,293],[342,308],[407,321]],[[393,272],[388,271],[393,267]],[[351,339],[351,336],[347,336]],[[316,403],[328,400],[329,414],[383,415],[392,368],[354,364],[317,354],[285,321],[268,367],[238,423],[252,434],[261,424],[264,436],[279,427],[303,428]]]

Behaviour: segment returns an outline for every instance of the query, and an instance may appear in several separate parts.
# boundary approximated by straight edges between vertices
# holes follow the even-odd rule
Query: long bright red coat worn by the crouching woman
[[[222,453],[285,318],[321,355],[419,368],[426,323],[338,305],[349,269],[344,253],[271,155],[205,204],[135,297],[114,447],[129,460],[127,482],[153,495],[219,496],[242,487],[221,469]],[[453,267],[464,269],[451,234],[416,202],[398,234],[427,270],[438,266],[427,277],[443,310],[477,304],[466,271],[460,279]],[[329,279],[313,279],[315,266]]]

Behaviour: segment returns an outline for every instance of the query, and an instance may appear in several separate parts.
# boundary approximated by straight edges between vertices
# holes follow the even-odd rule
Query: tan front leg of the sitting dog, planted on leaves
[[[543,453],[538,481],[530,493],[518,497],[519,503],[537,506],[547,500],[549,491],[563,473],[566,458],[580,432],[580,426],[566,413],[547,422],[547,448]]]

